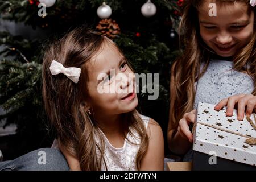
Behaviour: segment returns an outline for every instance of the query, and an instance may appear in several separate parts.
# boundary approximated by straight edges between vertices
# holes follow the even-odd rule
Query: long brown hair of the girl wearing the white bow
[[[93,117],[89,117],[85,111],[89,98],[86,63],[105,41],[113,43],[97,32],[80,27],[55,40],[44,50],[42,75],[46,113],[61,144],[77,157],[82,170],[101,170],[102,164],[106,168],[103,136]],[[63,74],[52,76],[49,71],[52,60],[59,61],[66,68],[81,68],[79,83],[73,83]],[[148,148],[146,128],[137,110],[123,114],[123,118],[130,126],[128,132],[133,135],[131,130],[137,131],[141,139],[136,157],[137,168],[140,169],[141,160]],[[100,137],[99,143],[96,137]],[[96,155],[96,150],[100,151],[100,156]]]

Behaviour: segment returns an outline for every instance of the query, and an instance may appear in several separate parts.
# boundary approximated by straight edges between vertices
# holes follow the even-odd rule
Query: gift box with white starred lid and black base
[[[193,127],[193,170],[256,170],[255,115],[226,117],[226,107],[199,102]]]

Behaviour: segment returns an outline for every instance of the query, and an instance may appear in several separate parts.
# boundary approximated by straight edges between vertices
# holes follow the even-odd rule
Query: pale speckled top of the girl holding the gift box
[[[232,68],[232,61],[210,61],[207,71],[197,82],[194,109],[197,108],[198,102],[218,104],[223,98],[253,92],[253,79],[246,73],[234,71]],[[184,156],[184,160],[192,160],[192,150]]]

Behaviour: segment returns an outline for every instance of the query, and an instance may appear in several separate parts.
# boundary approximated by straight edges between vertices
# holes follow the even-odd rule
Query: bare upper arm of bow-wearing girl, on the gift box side
[[[150,119],[147,127],[149,137],[148,150],[141,162],[142,171],[164,169],[164,140],[161,127]]]

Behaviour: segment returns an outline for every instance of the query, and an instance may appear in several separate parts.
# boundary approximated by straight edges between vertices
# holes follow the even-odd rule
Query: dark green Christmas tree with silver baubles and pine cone
[[[53,140],[48,135],[50,129],[42,105],[41,50],[48,39],[77,26],[88,26],[114,40],[136,73],[159,73],[158,100],[148,100],[147,94],[141,93],[138,110],[158,121],[166,136],[170,65],[180,55],[176,32],[182,3],[183,0],[1,0],[2,19],[23,22],[47,35],[28,40],[9,32],[0,34],[4,47],[0,52],[0,105],[6,110],[0,119],[6,119],[6,125],[18,125],[17,135],[26,138],[30,146],[22,152],[49,147]]]

